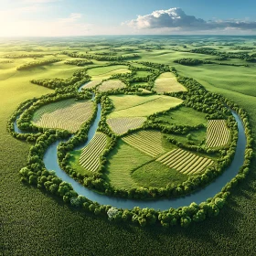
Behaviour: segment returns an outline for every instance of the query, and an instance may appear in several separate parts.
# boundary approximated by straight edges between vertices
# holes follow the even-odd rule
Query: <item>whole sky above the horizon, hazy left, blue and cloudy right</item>
[[[253,0],[0,0],[0,37],[256,34]]]

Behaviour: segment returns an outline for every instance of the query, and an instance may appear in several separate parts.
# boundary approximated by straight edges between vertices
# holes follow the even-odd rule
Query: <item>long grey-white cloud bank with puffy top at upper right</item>
[[[137,29],[170,28],[173,30],[213,30],[213,29],[241,29],[254,30],[256,22],[240,20],[206,21],[196,16],[187,16],[181,8],[157,10],[150,15],[138,16],[125,22],[129,27]]]

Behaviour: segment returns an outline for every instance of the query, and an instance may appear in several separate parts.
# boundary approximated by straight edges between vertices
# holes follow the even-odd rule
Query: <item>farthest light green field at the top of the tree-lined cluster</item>
[[[124,65],[113,65],[108,67],[89,69],[87,73],[91,76],[91,80],[107,80],[112,75],[131,72],[131,70],[127,68],[128,67]]]

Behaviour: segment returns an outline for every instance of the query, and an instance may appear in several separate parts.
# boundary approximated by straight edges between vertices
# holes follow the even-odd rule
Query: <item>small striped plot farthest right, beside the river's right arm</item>
[[[223,146],[229,143],[229,129],[225,120],[209,120],[207,130],[208,147]]]

